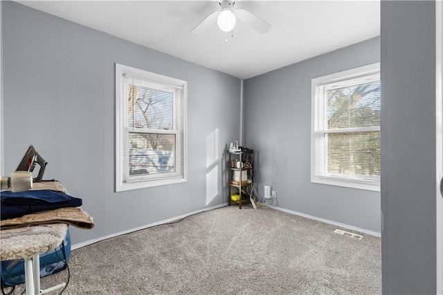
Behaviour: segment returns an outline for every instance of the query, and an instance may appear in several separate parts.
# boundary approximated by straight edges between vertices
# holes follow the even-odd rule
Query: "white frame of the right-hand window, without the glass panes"
[[[325,120],[327,121],[327,114],[321,116],[319,114],[320,104],[325,104],[324,90],[331,84],[334,88],[338,84],[339,87],[346,87],[354,84],[348,82],[349,80],[362,79],[366,82],[380,80],[380,63],[370,64],[368,66],[361,66],[356,69],[341,71],[339,73],[332,73],[322,77],[311,80],[311,182],[316,184],[327,184],[332,186],[343,186],[347,188],[359,188],[362,190],[380,191],[380,177],[350,177],[340,174],[334,174],[320,170],[320,162],[325,159],[318,159],[318,150],[321,148],[316,141],[317,135],[331,134],[336,132],[365,132],[365,131],[380,131],[380,126],[371,127],[352,127],[342,129],[325,129]],[[325,117],[326,116],[326,117]],[[324,149],[327,147],[323,147]],[[327,152],[325,152],[327,155]]]

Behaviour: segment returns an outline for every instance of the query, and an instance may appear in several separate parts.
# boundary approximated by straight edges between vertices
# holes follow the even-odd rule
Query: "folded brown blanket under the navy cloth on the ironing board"
[[[79,229],[92,229],[93,218],[80,207],[58,208],[51,211],[27,214],[9,220],[1,220],[0,229],[12,229],[31,224],[66,223]]]

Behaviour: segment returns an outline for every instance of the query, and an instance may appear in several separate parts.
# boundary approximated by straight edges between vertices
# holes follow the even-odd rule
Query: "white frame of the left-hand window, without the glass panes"
[[[136,77],[149,84],[154,89],[167,89],[174,92],[174,127],[171,130],[138,129],[137,132],[155,132],[164,134],[179,134],[183,132],[183,138],[177,136],[174,153],[182,155],[177,158],[176,172],[162,173],[154,176],[130,177],[125,175],[129,166],[129,148],[124,143],[129,136],[128,101],[125,96],[125,75]],[[116,192],[179,184],[187,181],[187,152],[186,152],[186,125],[187,125],[187,86],[188,83],[165,75],[144,71],[116,63]],[[181,142],[183,141],[183,142]],[[181,166],[183,165],[183,167]],[[181,173],[180,171],[183,171]]]

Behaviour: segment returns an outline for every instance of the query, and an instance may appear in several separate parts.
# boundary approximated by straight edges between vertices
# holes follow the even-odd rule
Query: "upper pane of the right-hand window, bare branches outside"
[[[380,81],[326,91],[327,128],[380,125]]]

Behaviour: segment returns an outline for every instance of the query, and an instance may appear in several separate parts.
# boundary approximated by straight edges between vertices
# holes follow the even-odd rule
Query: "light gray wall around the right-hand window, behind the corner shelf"
[[[380,193],[312,184],[311,79],[380,61],[370,39],[245,81],[245,145],[257,150],[257,188],[280,208],[380,233]]]

